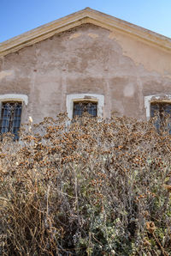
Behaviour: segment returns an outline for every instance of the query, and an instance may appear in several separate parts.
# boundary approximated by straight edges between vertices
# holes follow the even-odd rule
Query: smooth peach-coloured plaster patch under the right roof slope
[[[163,77],[166,73],[167,77],[171,75],[171,52],[119,31],[110,32],[108,38],[117,41],[123,55],[131,58],[137,66],[143,64],[145,70],[156,71]]]

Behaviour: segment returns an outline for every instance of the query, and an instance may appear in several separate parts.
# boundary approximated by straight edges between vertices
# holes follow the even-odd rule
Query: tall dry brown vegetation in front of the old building
[[[0,143],[0,254],[170,255],[171,136],[61,114]]]

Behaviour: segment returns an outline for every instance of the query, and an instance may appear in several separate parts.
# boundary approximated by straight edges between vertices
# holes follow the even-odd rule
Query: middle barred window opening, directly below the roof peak
[[[97,117],[97,102],[79,101],[74,102],[74,117],[81,117],[83,113],[89,113],[92,117]]]

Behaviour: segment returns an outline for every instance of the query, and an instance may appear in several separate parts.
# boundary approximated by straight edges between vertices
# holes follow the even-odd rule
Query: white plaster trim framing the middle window
[[[68,118],[73,119],[73,110],[75,101],[95,101],[97,102],[97,117],[103,117],[104,95],[103,94],[68,94],[67,95],[67,113]]]

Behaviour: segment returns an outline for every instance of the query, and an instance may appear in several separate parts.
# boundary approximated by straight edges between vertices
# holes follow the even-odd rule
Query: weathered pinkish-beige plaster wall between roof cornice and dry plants
[[[104,94],[112,112],[145,118],[144,96],[171,94],[171,52],[91,24],[0,58],[0,94],[27,94],[22,121],[66,111],[67,94]]]

